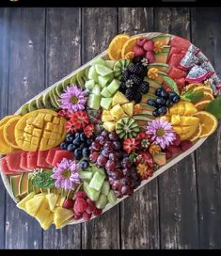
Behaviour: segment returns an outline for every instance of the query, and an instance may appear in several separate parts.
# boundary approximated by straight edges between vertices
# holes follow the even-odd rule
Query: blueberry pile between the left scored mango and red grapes
[[[83,157],[89,156],[89,147],[92,143],[92,138],[87,138],[83,131],[75,134],[67,134],[64,142],[60,144],[62,150],[73,152],[76,160],[81,160]]]

